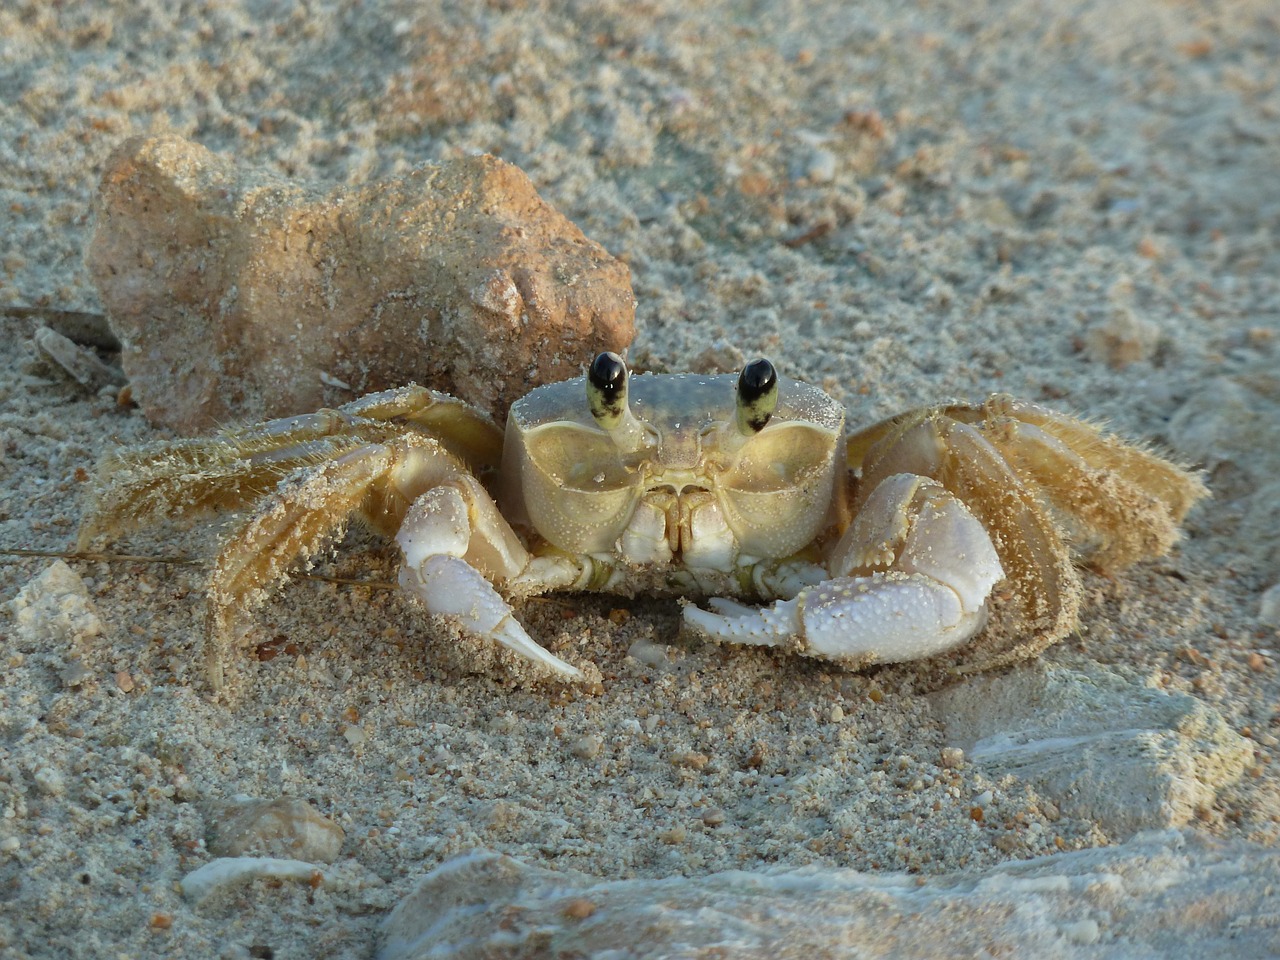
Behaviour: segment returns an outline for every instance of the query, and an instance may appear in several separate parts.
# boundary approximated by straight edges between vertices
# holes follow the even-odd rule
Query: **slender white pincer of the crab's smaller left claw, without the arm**
[[[566,680],[582,680],[577,667],[539,646],[512,616],[511,605],[493,584],[460,557],[433,554],[416,566],[401,567],[401,588],[431,613],[452,617],[468,634],[495,640]]]

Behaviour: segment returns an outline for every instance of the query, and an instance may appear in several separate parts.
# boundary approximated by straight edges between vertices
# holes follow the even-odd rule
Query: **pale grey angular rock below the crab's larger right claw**
[[[1194,696],[1115,673],[1036,664],[931,698],[947,742],[1115,837],[1188,823],[1252,762],[1248,740]]]

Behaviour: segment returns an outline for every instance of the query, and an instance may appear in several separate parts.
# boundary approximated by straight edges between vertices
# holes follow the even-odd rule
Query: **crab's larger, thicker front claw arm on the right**
[[[685,607],[685,622],[714,640],[787,646],[856,667],[950,650],[986,623],[1004,579],[983,525],[941,484],[883,480],[836,544],[832,579],[760,609],[723,599]]]

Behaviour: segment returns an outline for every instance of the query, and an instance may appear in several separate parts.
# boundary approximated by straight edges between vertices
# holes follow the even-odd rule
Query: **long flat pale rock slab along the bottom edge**
[[[480,850],[390,914],[378,960],[1272,956],[1280,854],[1175,831],[941,877],[800,868],[602,881]]]

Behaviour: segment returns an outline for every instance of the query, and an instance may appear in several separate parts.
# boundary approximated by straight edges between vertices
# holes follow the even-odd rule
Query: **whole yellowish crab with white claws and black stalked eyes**
[[[1076,563],[1114,571],[1166,552],[1204,495],[1183,467],[1007,396],[846,434],[836,399],[768,360],[632,375],[602,353],[517,401],[504,434],[408,385],[116,453],[81,545],[248,508],[209,581],[215,690],[238,620],[352,516],[397,540],[399,585],[429,613],[564,681],[590,664],[539,645],[521,600],[675,594],[684,625],[714,641],[970,672],[1070,634]]]

